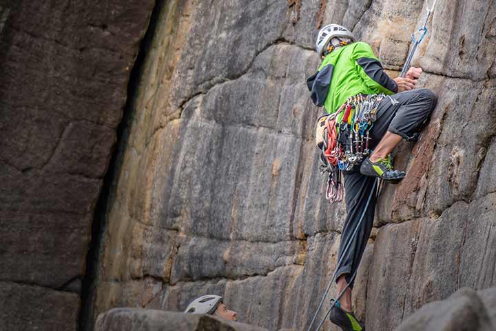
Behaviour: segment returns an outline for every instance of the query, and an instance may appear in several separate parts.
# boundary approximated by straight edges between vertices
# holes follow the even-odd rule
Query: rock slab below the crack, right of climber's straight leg
[[[367,298],[380,304],[367,301],[367,328],[392,330],[424,303],[462,287],[492,286],[494,203],[489,194],[470,204],[459,201],[435,219],[380,228],[367,287]]]

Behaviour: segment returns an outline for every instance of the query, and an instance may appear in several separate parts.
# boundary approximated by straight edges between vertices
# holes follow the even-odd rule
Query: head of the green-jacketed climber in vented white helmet
[[[344,26],[338,24],[328,24],[320,29],[317,41],[316,50],[321,59],[327,56],[330,52],[341,46],[347,46],[356,41],[355,35]]]

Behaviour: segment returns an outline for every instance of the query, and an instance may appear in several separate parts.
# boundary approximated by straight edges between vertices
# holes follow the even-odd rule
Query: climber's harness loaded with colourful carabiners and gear
[[[343,198],[341,172],[347,172],[371,154],[369,141],[373,122],[384,94],[350,97],[337,112],[320,117],[316,128],[316,143],[320,153],[320,173],[329,173],[326,199],[340,202]],[[343,113],[337,123],[338,115]]]

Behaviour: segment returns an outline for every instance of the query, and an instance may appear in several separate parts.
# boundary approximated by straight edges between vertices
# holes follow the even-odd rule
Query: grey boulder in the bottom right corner
[[[444,301],[424,305],[406,319],[397,331],[489,331],[495,330],[495,320],[491,321],[488,310],[494,312],[495,288],[479,291],[462,288]],[[481,298],[484,297],[484,300]]]

